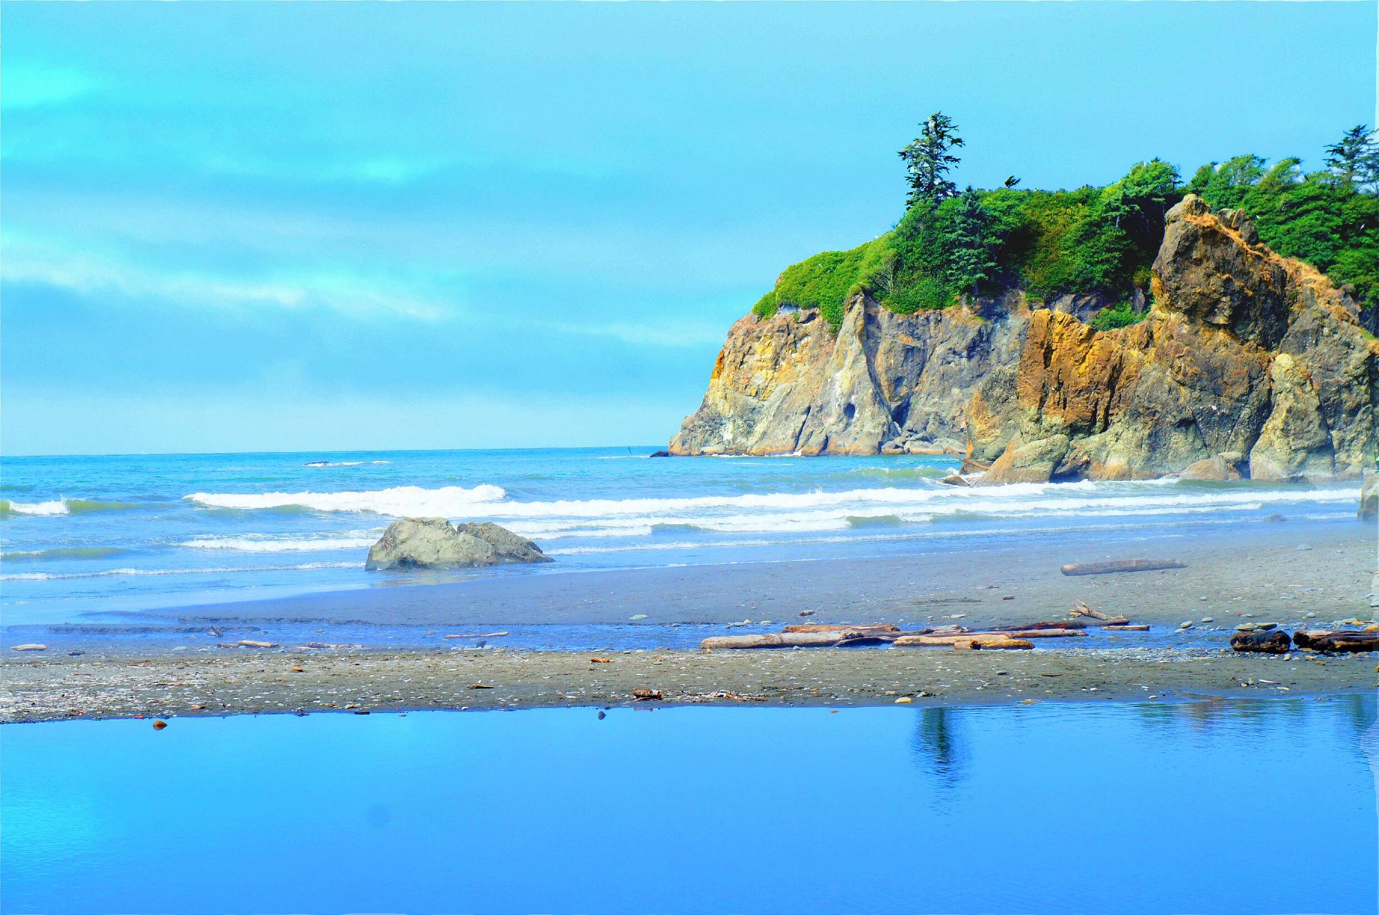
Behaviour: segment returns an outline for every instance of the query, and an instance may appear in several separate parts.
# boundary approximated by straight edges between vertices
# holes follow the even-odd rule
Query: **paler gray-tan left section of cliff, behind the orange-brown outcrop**
[[[967,402],[1019,351],[1011,309],[899,316],[866,296],[837,335],[814,311],[732,325],[672,453],[872,455],[961,449]]]

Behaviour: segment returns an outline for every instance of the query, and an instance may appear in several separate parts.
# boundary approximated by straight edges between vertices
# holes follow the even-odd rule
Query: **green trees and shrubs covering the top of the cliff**
[[[787,267],[753,311],[818,309],[837,327],[858,292],[912,314],[1018,288],[1034,302],[1098,294],[1118,305],[1092,325],[1125,327],[1143,317],[1129,303],[1135,291],[1147,298],[1164,216],[1189,192],[1216,209],[1244,209],[1270,248],[1379,306],[1379,143],[1364,125],[1328,147],[1318,172],[1303,174],[1298,158],[1266,168],[1258,156],[1240,156],[1204,165],[1183,185],[1175,167],[1151,158],[1111,185],[1077,190],[1022,190],[1012,176],[996,190],[958,193],[946,175],[963,145],[957,125],[932,114],[900,150],[909,196],[895,229]]]

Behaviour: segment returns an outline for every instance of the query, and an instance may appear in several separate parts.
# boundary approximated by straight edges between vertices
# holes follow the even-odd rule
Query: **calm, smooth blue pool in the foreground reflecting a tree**
[[[7,725],[0,892],[7,912],[1375,912],[1375,715],[1346,696]]]

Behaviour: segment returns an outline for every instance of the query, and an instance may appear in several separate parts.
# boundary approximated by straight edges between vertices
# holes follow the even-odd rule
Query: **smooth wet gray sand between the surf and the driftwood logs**
[[[523,624],[727,624],[742,620],[918,626],[956,613],[967,626],[1063,616],[1076,601],[1154,626],[1255,613],[1284,624],[1365,615],[1375,590],[1372,524],[1260,521],[1247,532],[1176,537],[1051,535],[1040,548],[987,548],[873,558],[753,562],[598,572],[498,569],[462,582],[397,583],[273,601],[203,605],[92,623],[325,623],[501,628]],[[1182,569],[1065,576],[1059,566],[1171,558]],[[633,619],[637,617],[637,619]],[[1238,620],[1236,620],[1238,621]]]

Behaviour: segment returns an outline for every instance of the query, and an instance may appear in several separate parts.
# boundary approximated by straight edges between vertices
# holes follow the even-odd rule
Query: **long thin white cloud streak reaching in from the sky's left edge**
[[[434,321],[454,309],[439,298],[350,276],[343,271],[294,271],[262,278],[138,265],[110,255],[66,251],[59,245],[6,234],[0,278],[66,289],[79,295],[121,296],[183,307],[331,310],[353,317],[389,316]]]

